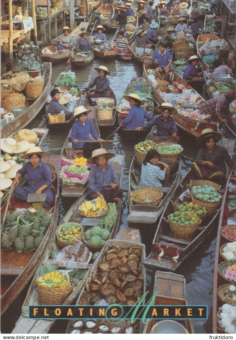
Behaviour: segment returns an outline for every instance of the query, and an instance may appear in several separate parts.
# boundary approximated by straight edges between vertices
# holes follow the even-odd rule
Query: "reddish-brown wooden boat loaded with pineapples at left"
[[[55,179],[53,183],[53,216],[41,245],[37,248],[37,250],[28,253],[22,252],[17,254],[14,250],[1,250],[1,313],[3,313],[11,305],[18,294],[29,282],[50,242],[52,232],[56,227],[59,216],[58,181]],[[1,213],[4,212],[5,207],[6,204],[2,206]],[[15,210],[17,208],[27,209],[31,207],[31,204],[16,202],[13,194],[10,199],[9,207],[8,211],[10,211],[10,209]],[[45,208],[45,210],[49,211],[50,208]]]

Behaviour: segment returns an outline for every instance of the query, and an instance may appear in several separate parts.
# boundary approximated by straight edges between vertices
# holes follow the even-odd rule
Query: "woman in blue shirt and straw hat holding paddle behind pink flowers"
[[[71,129],[71,141],[72,151],[74,158],[78,157],[83,149],[83,155],[85,158],[89,158],[92,155],[92,151],[100,148],[99,143],[80,143],[80,140],[91,140],[89,134],[93,136],[94,139],[99,140],[101,143],[104,141],[101,139],[95,131],[94,125],[90,119],[87,118],[87,114],[92,110],[86,109],[83,105],[78,106],[74,109],[74,116],[71,119],[77,118],[73,123]]]

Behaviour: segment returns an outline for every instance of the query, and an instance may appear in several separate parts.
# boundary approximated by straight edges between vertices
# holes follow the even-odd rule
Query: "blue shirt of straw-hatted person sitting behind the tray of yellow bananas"
[[[114,168],[110,164],[106,164],[105,171],[96,165],[89,172],[89,193],[96,193],[103,188],[107,184],[118,184],[120,186],[119,179],[116,175]],[[106,187],[107,190],[111,190],[111,187]]]

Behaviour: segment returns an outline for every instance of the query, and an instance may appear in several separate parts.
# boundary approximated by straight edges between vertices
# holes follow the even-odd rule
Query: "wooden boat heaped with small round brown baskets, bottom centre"
[[[99,264],[103,261],[103,258],[106,256],[108,250],[115,246],[116,249],[119,251],[120,249],[123,249],[123,250],[129,250],[131,247],[138,247],[139,251],[140,251],[140,256],[138,256],[139,258],[141,258],[141,263],[143,261],[143,259],[145,258],[145,245],[142,244],[142,243],[136,243],[136,242],[131,242],[131,241],[124,241],[124,240],[118,240],[118,239],[115,239],[115,240],[108,240],[105,244],[105,246],[103,247],[101,253],[98,255],[96,261],[94,262],[92,268],[91,268],[91,273],[96,273],[96,275],[99,275],[99,273],[101,272],[101,270],[99,269]],[[136,248],[137,249],[137,248]],[[114,265],[116,268],[116,265]],[[146,278],[146,273],[145,273],[145,270],[144,270],[144,266],[141,266],[141,271],[140,271],[140,278],[138,278],[137,280],[139,280],[139,285],[141,286],[142,285],[142,282],[144,282],[144,285],[142,287],[140,287],[141,291],[142,291],[142,295],[145,294],[145,291],[146,291],[146,286],[145,286],[145,278]],[[129,275],[129,274],[128,274]],[[131,274],[132,275],[132,274]],[[107,277],[107,280],[110,281],[110,277],[108,276]],[[117,279],[119,281],[119,279]],[[142,281],[141,281],[142,280]],[[113,280],[114,282],[115,280]],[[83,303],[83,300],[84,300],[84,295],[86,294],[86,292],[88,293],[88,290],[86,289],[86,285],[88,287],[88,283],[91,282],[91,278],[90,280],[87,279],[86,280],[86,283],[84,284],[83,288],[81,289],[80,291],[80,294],[76,300],[76,305],[79,305],[79,304],[82,304]],[[134,281],[135,282],[135,281]],[[120,284],[120,283],[119,283]],[[116,290],[116,287],[118,287],[116,285],[116,283],[112,284],[114,286],[113,288],[113,291],[114,289]],[[103,288],[103,284],[101,285]],[[112,287],[113,287],[112,286]],[[126,285],[126,288],[127,288],[128,285]],[[122,288],[119,289],[119,291],[122,292]],[[116,292],[118,292],[118,290],[114,291],[114,295],[116,295]],[[109,294],[108,296],[105,296],[105,295],[102,295],[101,293],[101,289],[98,290],[94,290],[93,293],[95,294],[99,294],[102,296],[103,299],[109,299],[110,295],[111,297],[114,296],[113,294]],[[88,295],[88,294],[87,294]],[[124,294],[123,294],[124,295]],[[85,295],[86,296],[86,295]],[[104,296],[104,297],[103,297]],[[119,295],[120,296],[120,295]],[[128,299],[127,299],[128,300]],[[133,301],[135,301],[136,299],[134,298]],[[125,300],[126,301],[126,300]],[[90,304],[94,304],[94,302],[90,302]],[[125,302],[122,303],[122,305],[124,305]],[[143,304],[145,304],[145,302],[143,301]],[[105,319],[105,318],[104,318]],[[122,319],[123,320],[123,319]],[[70,333],[71,331],[71,328],[73,327],[72,326],[72,323],[74,322],[75,320],[73,321],[70,321],[68,323],[68,326],[67,326],[67,329],[66,329],[66,333]],[[84,320],[84,321],[87,321],[87,320]],[[97,323],[100,323],[102,320],[97,320]],[[123,320],[122,321],[123,323],[123,326],[121,326],[122,328],[124,328],[126,325],[129,325],[130,324],[130,321],[129,320]],[[106,323],[107,324],[107,323]],[[136,326],[139,327],[139,322],[137,321],[136,322]],[[110,324],[112,326],[112,323]],[[117,325],[117,324],[116,324]],[[119,325],[119,324],[118,324]],[[135,327],[136,328],[136,327]],[[137,332],[137,328],[135,329],[135,332]],[[108,333],[112,333],[111,331],[108,331]],[[124,330],[122,329],[120,331],[120,333],[125,333]]]

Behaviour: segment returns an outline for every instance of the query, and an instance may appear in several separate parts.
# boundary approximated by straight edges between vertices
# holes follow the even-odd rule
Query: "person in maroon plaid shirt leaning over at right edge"
[[[230,122],[235,126],[236,122],[230,113],[230,104],[236,99],[236,91],[230,90],[225,96],[214,97],[198,105],[197,109],[201,115],[211,115],[214,120],[220,122]],[[225,118],[223,118],[225,117]],[[227,118],[227,119],[226,119]]]

